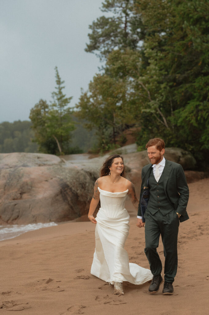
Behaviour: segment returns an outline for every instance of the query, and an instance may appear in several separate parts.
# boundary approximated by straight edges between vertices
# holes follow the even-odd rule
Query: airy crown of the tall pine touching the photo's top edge
[[[101,11],[111,12],[113,16],[103,15],[89,26],[91,33],[85,51],[99,52],[100,59],[106,59],[114,49],[137,49],[145,33],[134,3],[134,0],[105,0]]]

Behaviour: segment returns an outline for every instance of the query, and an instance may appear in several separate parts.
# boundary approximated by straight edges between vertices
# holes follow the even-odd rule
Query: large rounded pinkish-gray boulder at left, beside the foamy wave
[[[0,223],[60,222],[88,213],[98,177],[57,156],[0,154]]]

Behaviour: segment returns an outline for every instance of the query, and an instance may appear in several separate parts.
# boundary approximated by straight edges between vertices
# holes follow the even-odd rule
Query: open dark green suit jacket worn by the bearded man
[[[142,186],[138,207],[138,215],[143,218],[144,211],[149,200],[149,176],[152,171],[152,164],[148,164],[142,169]],[[189,199],[189,188],[187,186],[186,177],[182,166],[178,163],[165,160],[164,167],[164,192],[180,216],[180,222],[189,219],[186,212],[186,206]]]

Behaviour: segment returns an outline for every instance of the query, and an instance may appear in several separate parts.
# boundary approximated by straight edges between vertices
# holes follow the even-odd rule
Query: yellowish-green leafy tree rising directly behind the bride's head
[[[97,74],[89,83],[87,92],[83,92],[75,114],[86,119],[85,126],[96,129],[100,150],[106,151],[119,141],[124,141],[122,131],[130,124],[130,93],[125,79]],[[132,118],[132,117],[131,117]]]

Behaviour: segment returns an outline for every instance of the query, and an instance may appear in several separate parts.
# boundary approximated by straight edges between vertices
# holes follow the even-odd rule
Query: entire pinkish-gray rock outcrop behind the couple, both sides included
[[[142,167],[149,163],[147,151],[136,152],[135,144],[103,157],[73,154],[0,154],[0,224],[28,224],[73,220],[88,213],[94,182],[105,158],[124,156],[127,178],[137,191]],[[165,157],[192,169],[194,158],[181,149],[167,148]],[[191,174],[190,174],[191,176]],[[194,174],[192,175],[194,176]]]

